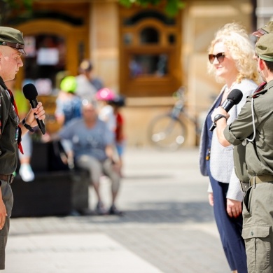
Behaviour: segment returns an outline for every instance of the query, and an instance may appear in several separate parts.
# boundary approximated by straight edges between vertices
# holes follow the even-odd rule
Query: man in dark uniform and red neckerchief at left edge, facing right
[[[10,183],[17,167],[18,148],[22,152],[20,136],[37,126],[36,118],[43,120],[45,111],[41,102],[20,122],[13,94],[5,85],[13,80],[23,66],[26,55],[22,32],[11,27],[0,27],[0,270],[5,269],[5,248],[8,239],[13,193]]]

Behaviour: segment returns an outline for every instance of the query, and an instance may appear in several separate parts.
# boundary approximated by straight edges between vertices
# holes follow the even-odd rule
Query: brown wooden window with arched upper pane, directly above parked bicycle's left
[[[172,95],[181,85],[181,18],[137,10],[121,12],[120,92],[127,97]]]

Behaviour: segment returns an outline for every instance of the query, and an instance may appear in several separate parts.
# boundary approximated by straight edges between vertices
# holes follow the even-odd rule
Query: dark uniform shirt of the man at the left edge
[[[0,174],[13,174],[18,163],[19,118],[10,95],[0,87]]]

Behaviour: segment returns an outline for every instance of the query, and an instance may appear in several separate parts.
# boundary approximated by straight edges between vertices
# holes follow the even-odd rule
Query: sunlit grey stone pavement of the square
[[[128,148],[124,162],[117,205],[125,216],[12,218],[6,272],[230,272],[197,148]],[[104,179],[107,205],[109,189]]]

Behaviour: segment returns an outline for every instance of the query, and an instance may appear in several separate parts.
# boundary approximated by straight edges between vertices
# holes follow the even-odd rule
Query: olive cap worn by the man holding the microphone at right
[[[262,35],[255,48],[260,59],[273,62],[273,33]]]

